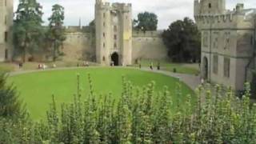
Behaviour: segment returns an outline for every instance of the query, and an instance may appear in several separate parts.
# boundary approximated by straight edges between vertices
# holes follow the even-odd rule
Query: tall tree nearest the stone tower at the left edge
[[[36,0],[20,0],[14,19],[15,54],[26,54],[40,51],[43,39],[42,6]]]

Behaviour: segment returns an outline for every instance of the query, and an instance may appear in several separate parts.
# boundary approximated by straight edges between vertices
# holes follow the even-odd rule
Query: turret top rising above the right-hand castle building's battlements
[[[194,0],[194,15],[224,14],[226,0]]]

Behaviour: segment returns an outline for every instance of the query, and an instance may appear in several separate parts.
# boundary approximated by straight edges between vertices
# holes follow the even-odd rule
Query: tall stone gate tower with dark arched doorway
[[[132,8],[131,4],[96,0],[96,58],[110,66],[132,64]]]

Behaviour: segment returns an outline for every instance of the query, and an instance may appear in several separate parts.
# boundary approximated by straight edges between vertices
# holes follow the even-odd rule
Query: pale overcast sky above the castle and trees
[[[193,18],[194,0],[106,0],[107,2],[130,2],[133,5],[133,15],[142,11],[154,12],[158,15],[158,29],[166,29],[171,22],[184,17]],[[79,18],[86,26],[94,19],[95,0],[38,0],[43,6],[43,20],[51,14],[51,6],[58,3],[65,8],[65,25],[78,26]],[[246,8],[256,8],[256,0],[226,0],[226,7],[233,9],[237,2],[244,2]],[[18,0],[14,0],[14,11],[17,10]]]

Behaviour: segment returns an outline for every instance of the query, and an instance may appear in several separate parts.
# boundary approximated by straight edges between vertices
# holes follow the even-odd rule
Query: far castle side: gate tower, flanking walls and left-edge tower
[[[13,5],[13,0],[0,0],[0,62],[12,59]],[[63,60],[95,61],[102,66],[114,62],[121,66],[140,58],[165,59],[167,50],[162,42],[162,31],[132,30],[131,14],[131,4],[95,0],[95,34],[89,26],[66,26]],[[49,56],[34,57],[41,61]]]

